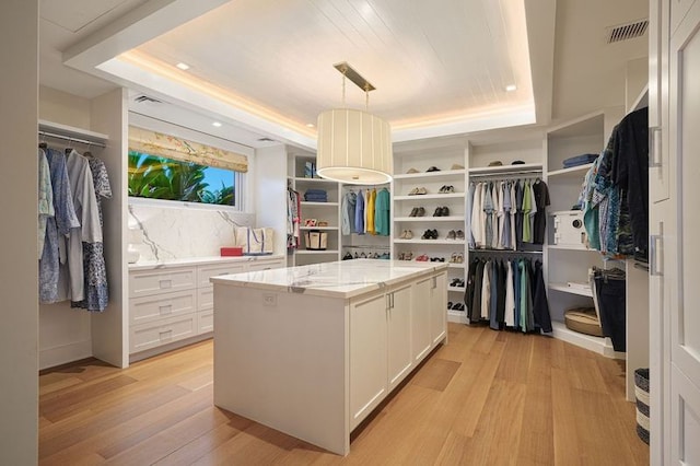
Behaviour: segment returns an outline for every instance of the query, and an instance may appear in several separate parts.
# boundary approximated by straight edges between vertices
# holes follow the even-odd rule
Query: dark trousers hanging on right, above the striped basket
[[[620,269],[596,269],[595,288],[603,335],[612,340],[615,351],[625,351],[627,348],[625,272]]]

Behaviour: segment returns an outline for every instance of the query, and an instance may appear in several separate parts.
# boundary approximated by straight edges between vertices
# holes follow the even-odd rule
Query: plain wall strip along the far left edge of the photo
[[[38,457],[38,2],[0,2],[0,464]],[[11,65],[10,65],[11,63]]]

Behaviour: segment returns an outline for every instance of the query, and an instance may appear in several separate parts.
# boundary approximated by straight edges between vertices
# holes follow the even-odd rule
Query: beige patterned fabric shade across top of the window
[[[129,150],[234,172],[248,171],[245,155],[136,126],[129,126]]]

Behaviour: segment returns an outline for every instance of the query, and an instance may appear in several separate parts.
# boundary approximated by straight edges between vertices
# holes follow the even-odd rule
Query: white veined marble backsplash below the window
[[[129,228],[143,231],[142,243],[137,245],[139,263],[219,256],[222,246],[233,246],[235,226],[253,225],[253,213],[184,202],[174,207],[129,203]]]

